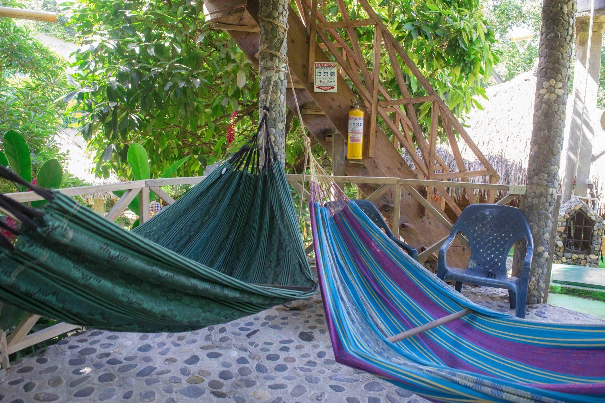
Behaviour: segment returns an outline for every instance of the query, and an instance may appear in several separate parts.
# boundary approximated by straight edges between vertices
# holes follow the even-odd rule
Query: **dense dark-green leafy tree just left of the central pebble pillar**
[[[198,175],[254,129],[258,81],[234,42],[200,18],[201,4],[83,0],[68,5],[82,48],[75,54],[82,134],[97,150],[97,174],[127,177],[128,147],[142,144],[153,172],[184,156]],[[109,148],[108,148],[109,147]],[[113,150],[113,152],[112,152]]]

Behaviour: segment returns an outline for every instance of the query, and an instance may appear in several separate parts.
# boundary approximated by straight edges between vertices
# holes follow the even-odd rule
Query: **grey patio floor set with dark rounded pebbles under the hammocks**
[[[500,290],[463,288],[503,312]],[[598,322],[549,305],[532,320]],[[257,315],[186,333],[87,330],[12,363],[0,402],[424,402],[402,388],[336,363],[319,294]]]

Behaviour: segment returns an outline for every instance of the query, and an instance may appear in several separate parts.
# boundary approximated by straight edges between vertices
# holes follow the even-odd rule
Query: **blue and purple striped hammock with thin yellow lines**
[[[403,253],[354,203],[324,207],[318,199],[326,193],[317,189],[313,242],[339,363],[433,401],[605,398],[605,324],[523,320],[476,305]],[[465,308],[474,312],[387,340]]]

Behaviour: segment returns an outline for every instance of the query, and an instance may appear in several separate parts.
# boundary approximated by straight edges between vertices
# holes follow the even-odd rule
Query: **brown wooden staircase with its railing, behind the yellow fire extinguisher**
[[[364,127],[370,128],[364,137],[364,156],[361,164],[346,164],[345,173],[350,176],[385,176],[410,179],[429,179],[443,181],[443,186],[418,187],[424,200],[418,201],[416,192],[402,192],[401,199],[401,236],[405,241],[422,250],[445,237],[451,228],[451,220],[445,214],[448,205],[454,214],[460,214],[456,201],[447,192],[448,179],[468,181],[472,176],[489,176],[491,183],[499,181],[499,175],[488,163],[473,140],[450,109],[441,100],[428,80],[422,76],[419,69],[407,56],[393,34],[388,31],[382,19],[370,7],[367,0],[358,0],[367,19],[351,21],[343,0],[337,0],[340,10],[338,21],[328,21],[318,11],[317,0],[296,0],[298,10],[290,8],[289,30],[287,37],[287,56],[290,69],[297,82],[287,91],[287,104],[295,108],[293,92],[303,108],[303,120],[310,133],[332,153],[332,134],[340,134],[347,138],[348,111],[352,100],[357,100],[365,106]],[[260,34],[258,33],[258,0],[206,0],[204,2],[207,21],[215,22],[216,28],[226,30],[235,40],[247,57],[258,65],[255,57],[259,49]],[[314,16],[314,18],[311,17]],[[368,67],[361,52],[355,27],[373,25],[374,50],[372,57],[373,68]],[[347,37],[348,40],[345,40]],[[379,63],[382,52],[386,51],[388,62],[393,66],[394,78],[402,98],[388,93],[381,85]],[[338,92],[313,92],[313,62],[338,62],[341,75],[338,77]],[[427,93],[422,97],[410,97],[405,83],[404,66],[416,77]],[[361,73],[361,77],[360,74]],[[345,76],[353,83],[356,94],[345,82]],[[361,96],[361,99],[360,99]],[[399,95],[398,95],[399,96]],[[414,110],[414,103],[430,102],[431,124],[428,135],[422,132]],[[439,123],[441,123],[439,125]],[[446,164],[436,153],[438,131],[448,138],[451,151],[456,158],[458,170],[450,172]],[[390,134],[388,137],[387,133]],[[469,144],[484,169],[476,172],[466,172],[465,164],[460,155],[456,132],[460,140]],[[413,136],[416,138],[420,152],[416,152]],[[411,156],[414,166],[410,167],[400,154],[400,147]],[[342,147],[339,147],[341,149]],[[360,185],[366,195],[373,193],[376,188],[370,185]],[[400,189],[401,187],[396,187]],[[386,189],[385,189],[386,190]],[[393,200],[393,189],[384,193],[384,198],[378,201],[381,211],[392,208],[388,205]],[[415,195],[411,193],[416,193]],[[467,189],[468,202],[476,202],[470,189]],[[494,201],[494,193],[488,192],[488,202]],[[440,216],[427,213],[427,202],[430,210],[437,211]],[[424,205],[423,205],[424,204]],[[462,245],[459,245],[462,246]],[[450,263],[466,265],[468,261],[465,248],[458,248],[448,260]]]

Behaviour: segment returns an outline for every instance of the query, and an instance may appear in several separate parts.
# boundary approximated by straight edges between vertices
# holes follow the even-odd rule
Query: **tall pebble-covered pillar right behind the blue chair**
[[[541,303],[551,247],[558,171],[563,146],[565,105],[569,92],[569,60],[574,44],[574,0],[544,0],[535,92],[534,127],[523,210],[534,239],[528,303]]]

